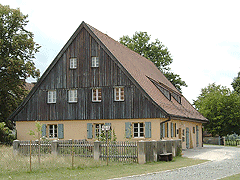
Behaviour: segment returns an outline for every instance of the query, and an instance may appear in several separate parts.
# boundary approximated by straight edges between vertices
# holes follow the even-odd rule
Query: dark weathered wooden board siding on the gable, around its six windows
[[[91,67],[92,56],[99,57],[99,67]],[[71,57],[77,58],[77,69],[70,69]],[[165,117],[120,67],[83,28],[14,120]],[[114,101],[115,86],[124,86],[123,102]],[[94,87],[102,89],[101,102],[92,102]],[[68,103],[69,89],[77,89],[77,103]],[[48,90],[56,90],[55,104],[47,104]]]

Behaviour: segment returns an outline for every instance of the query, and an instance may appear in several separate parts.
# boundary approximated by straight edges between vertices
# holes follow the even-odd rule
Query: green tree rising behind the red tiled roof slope
[[[171,53],[158,39],[155,42],[150,42],[151,36],[146,32],[135,32],[132,38],[123,36],[120,38],[120,43],[127,46],[129,49],[137,52],[141,56],[151,60],[157,68],[163,72],[167,79],[181,92],[181,86],[187,87],[179,75],[171,72],[169,65],[173,62]]]

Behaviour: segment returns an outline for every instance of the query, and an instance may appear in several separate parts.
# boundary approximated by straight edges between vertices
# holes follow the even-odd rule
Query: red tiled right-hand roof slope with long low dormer
[[[175,118],[185,118],[191,120],[208,121],[183,97],[173,84],[163,75],[163,73],[154,65],[153,62],[130,50],[108,35],[87,25],[92,32],[105,45],[110,53],[119,61],[119,63],[128,71],[133,79],[150,96],[150,98],[165,110],[170,116]],[[181,104],[174,98],[168,100],[164,94],[150,81],[158,81],[167,89],[181,96]]]

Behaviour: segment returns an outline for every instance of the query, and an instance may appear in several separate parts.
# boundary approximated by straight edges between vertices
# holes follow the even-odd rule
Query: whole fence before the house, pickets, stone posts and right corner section
[[[181,152],[181,140],[102,142],[86,140],[19,141],[13,142],[14,155],[60,155],[94,158],[124,163],[158,161],[159,154]],[[39,153],[40,152],[40,153]]]

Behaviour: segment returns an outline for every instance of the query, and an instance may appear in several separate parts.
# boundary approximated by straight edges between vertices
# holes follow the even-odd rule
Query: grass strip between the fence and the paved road
[[[12,147],[0,147],[0,179],[108,179],[137,174],[146,174],[191,166],[205,160],[174,158],[171,162],[152,162],[146,164],[123,164],[94,161],[75,157],[71,168],[71,157],[43,156],[41,164],[37,157],[32,158],[32,172],[29,171],[29,157],[13,156]]]

